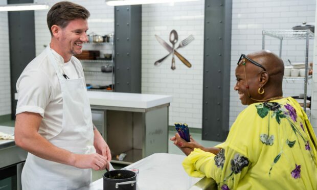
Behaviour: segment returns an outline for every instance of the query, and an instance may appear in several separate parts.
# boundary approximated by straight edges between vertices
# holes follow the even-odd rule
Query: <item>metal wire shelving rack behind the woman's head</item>
[[[262,50],[265,49],[265,36],[274,37],[280,40],[280,54],[282,57],[282,42],[284,39],[299,39],[306,40],[305,48],[305,77],[304,79],[304,111],[306,112],[306,100],[307,100],[307,80],[308,80],[308,47],[309,39],[314,39],[314,33],[309,29],[307,30],[263,30],[262,31]],[[288,80],[284,77],[284,79]],[[293,80],[292,78],[289,78]]]

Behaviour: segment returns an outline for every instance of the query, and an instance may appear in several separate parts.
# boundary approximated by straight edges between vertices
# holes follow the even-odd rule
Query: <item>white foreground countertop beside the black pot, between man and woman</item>
[[[216,183],[208,178],[187,175],[182,166],[183,155],[156,153],[139,160],[126,168],[139,169],[137,190],[198,190],[217,189]],[[103,178],[79,190],[102,190]]]

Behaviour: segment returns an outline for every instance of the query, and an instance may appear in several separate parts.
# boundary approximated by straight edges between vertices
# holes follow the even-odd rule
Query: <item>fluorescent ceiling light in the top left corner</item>
[[[30,11],[30,10],[42,10],[48,9],[47,4],[34,4],[34,3],[23,3],[23,4],[8,4],[1,5],[0,11]]]

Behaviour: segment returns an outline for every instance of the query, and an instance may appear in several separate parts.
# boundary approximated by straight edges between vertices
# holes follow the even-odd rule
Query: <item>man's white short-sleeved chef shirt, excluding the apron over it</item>
[[[58,53],[52,49],[51,51],[59,64],[61,73],[66,74],[70,79],[78,79],[75,65],[79,77],[84,78],[82,65],[77,58],[72,56],[69,62],[64,63]],[[16,89],[18,101],[15,114],[26,111],[39,113],[43,117],[39,134],[46,139],[57,135],[62,127],[63,101],[58,77],[54,67],[49,63],[46,51],[27,65],[17,80]]]

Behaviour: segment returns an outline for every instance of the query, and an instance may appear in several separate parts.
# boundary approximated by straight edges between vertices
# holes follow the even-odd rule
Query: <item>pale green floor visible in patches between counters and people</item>
[[[14,121],[10,119],[8,115],[6,116],[0,116],[0,126],[9,126],[14,127]],[[173,127],[169,128],[169,138],[174,136],[176,133],[175,129]],[[216,141],[209,141],[209,140],[201,140],[201,130],[200,129],[194,129],[191,132],[192,137],[202,146],[205,147],[213,147],[219,142]],[[183,155],[183,152],[180,151],[176,146],[173,145],[172,141],[169,140],[168,143],[168,153],[171,154],[180,154]],[[126,165],[122,164],[112,164],[115,169],[121,169],[124,168]],[[93,171],[93,181],[96,181],[97,179],[102,178],[102,175],[105,173],[105,171]]]

